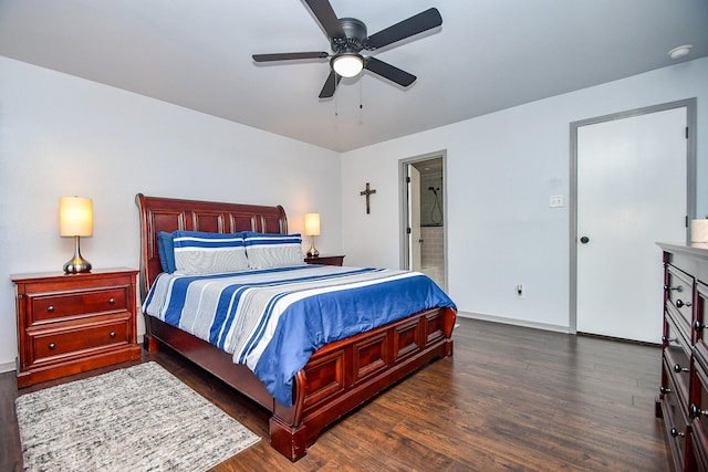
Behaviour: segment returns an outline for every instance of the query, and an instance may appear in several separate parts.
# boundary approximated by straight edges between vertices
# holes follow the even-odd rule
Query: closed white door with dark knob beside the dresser
[[[686,240],[686,107],[577,128],[576,329],[658,343],[662,252]]]

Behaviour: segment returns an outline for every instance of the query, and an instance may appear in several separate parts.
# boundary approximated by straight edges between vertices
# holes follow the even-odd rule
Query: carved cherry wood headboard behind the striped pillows
[[[135,196],[140,212],[140,294],[143,300],[163,272],[157,233],[176,230],[236,233],[288,233],[283,207]]]

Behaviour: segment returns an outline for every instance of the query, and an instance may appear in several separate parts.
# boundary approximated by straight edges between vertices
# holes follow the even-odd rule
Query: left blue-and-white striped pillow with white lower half
[[[236,272],[248,269],[242,233],[175,231],[175,266],[190,274]]]

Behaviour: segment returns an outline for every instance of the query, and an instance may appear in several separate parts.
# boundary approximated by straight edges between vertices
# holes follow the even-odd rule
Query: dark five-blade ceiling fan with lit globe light
[[[363,50],[376,49],[430,30],[442,24],[437,9],[430,8],[371,36],[366,34],[366,24],[355,18],[337,18],[329,0],[305,0],[308,7],[324,29],[332,54],[327,52],[285,52],[275,54],[253,54],[256,62],[292,61],[302,59],[330,59],[330,76],[320,92],[320,98],[334,95],[342,77],[353,77],[363,69],[378,74],[404,87],[413,84],[416,76],[402,71],[384,61],[372,56],[363,56]]]

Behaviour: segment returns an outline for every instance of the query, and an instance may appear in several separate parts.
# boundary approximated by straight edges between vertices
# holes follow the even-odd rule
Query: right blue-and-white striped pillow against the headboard
[[[295,234],[243,233],[248,265],[251,269],[268,269],[282,265],[302,265],[302,237]]]

